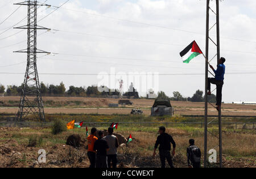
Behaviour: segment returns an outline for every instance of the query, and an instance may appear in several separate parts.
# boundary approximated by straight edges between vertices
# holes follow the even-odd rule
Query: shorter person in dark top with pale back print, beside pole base
[[[200,168],[201,165],[201,151],[195,145],[195,140],[189,140],[189,147],[187,148],[188,167]]]

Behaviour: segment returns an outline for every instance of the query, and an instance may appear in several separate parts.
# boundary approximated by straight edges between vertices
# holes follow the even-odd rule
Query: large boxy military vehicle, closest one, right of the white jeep
[[[170,100],[155,100],[151,108],[151,116],[174,116],[174,108]]]

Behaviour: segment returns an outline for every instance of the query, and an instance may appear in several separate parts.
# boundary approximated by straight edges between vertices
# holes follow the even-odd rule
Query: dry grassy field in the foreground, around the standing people
[[[47,114],[48,121],[61,119],[68,122],[72,119],[86,122],[191,122],[202,121],[203,118],[192,117],[149,117],[131,115],[96,115],[96,114]],[[230,122],[255,121],[255,118],[224,118]],[[104,126],[104,125],[103,125]],[[108,128],[98,127],[100,130]],[[159,156],[152,158],[154,143],[159,126],[147,125],[119,125],[115,131],[128,137],[130,134],[134,140],[127,147],[118,149],[119,167],[160,167]],[[90,126],[89,126],[90,130]],[[210,127],[209,131],[217,135],[217,127]],[[186,148],[188,140],[194,138],[196,144],[204,150],[204,129],[198,126],[173,125],[167,127],[167,133],[171,134],[177,143],[174,156],[175,167],[186,166]],[[73,148],[65,145],[69,135],[79,134],[83,140],[83,146]],[[28,147],[32,137],[36,136],[34,147]],[[217,146],[215,137],[208,135],[209,149]],[[18,128],[0,127],[0,167],[88,167],[86,156],[85,129],[65,131],[62,134],[53,135],[51,127],[47,128]],[[38,150],[47,152],[47,163],[38,164]],[[225,127],[223,131],[223,160],[224,167],[256,167],[256,134],[255,130],[234,130]],[[216,167],[209,165],[209,167]]]

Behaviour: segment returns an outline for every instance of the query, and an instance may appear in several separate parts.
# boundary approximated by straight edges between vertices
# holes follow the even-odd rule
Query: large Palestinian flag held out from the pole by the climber
[[[189,63],[191,59],[199,56],[200,54],[203,54],[203,52],[200,50],[199,46],[194,40],[182,52],[180,52],[180,57],[183,59],[183,63]]]

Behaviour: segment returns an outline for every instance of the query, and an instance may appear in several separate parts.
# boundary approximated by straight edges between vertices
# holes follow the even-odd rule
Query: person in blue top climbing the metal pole
[[[217,70],[214,70],[213,66],[210,65],[210,68],[214,71],[215,78],[208,78],[208,95],[212,95],[210,91],[210,83],[216,84],[217,86],[217,94],[216,94],[216,105],[217,110],[221,109],[221,102],[222,102],[222,86],[224,84],[224,74],[225,74],[225,63],[226,59],[221,57],[218,60]]]

